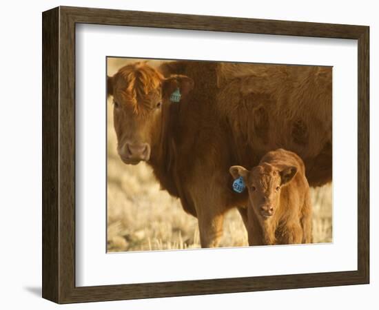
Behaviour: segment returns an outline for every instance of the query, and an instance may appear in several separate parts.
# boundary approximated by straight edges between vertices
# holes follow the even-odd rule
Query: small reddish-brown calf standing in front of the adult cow
[[[289,245],[312,241],[312,210],[305,166],[299,156],[285,149],[268,152],[251,171],[229,169],[243,177],[249,203],[249,245]]]

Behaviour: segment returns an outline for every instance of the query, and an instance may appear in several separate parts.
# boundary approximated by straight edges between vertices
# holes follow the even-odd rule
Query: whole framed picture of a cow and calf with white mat
[[[42,20],[43,298],[369,282],[369,27]]]

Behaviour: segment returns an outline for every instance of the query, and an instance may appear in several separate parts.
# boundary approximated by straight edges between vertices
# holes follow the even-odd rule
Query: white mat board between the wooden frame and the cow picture
[[[356,40],[103,25],[76,27],[76,285],[357,269]],[[158,45],[158,50],[150,48]],[[106,254],[107,55],[333,65],[333,244]],[[350,178],[346,178],[348,166]]]

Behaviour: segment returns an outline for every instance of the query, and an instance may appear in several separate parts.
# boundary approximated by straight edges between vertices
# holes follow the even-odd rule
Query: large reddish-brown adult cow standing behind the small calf
[[[247,193],[232,190],[230,166],[254,167],[284,147],[303,158],[311,186],[331,180],[331,68],[133,63],[108,77],[107,91],[121,159],[152,166],[198,218],[202,247],[218,245],[233,207],[247,225]]]

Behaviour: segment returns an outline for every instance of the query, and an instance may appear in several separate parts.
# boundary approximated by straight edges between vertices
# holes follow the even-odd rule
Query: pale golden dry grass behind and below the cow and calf
[[[109,59],[112,75],[125,59]],[[145,163],[125,165],[116,154],[112,104],[107,105],[107,249],[143,251],[199,248],[197,219],[178,199],[161,191]],[[331,242],[331,186],[312,189],[314,242]],[[221,247],[247,246],[238,211],[225,217]]]

